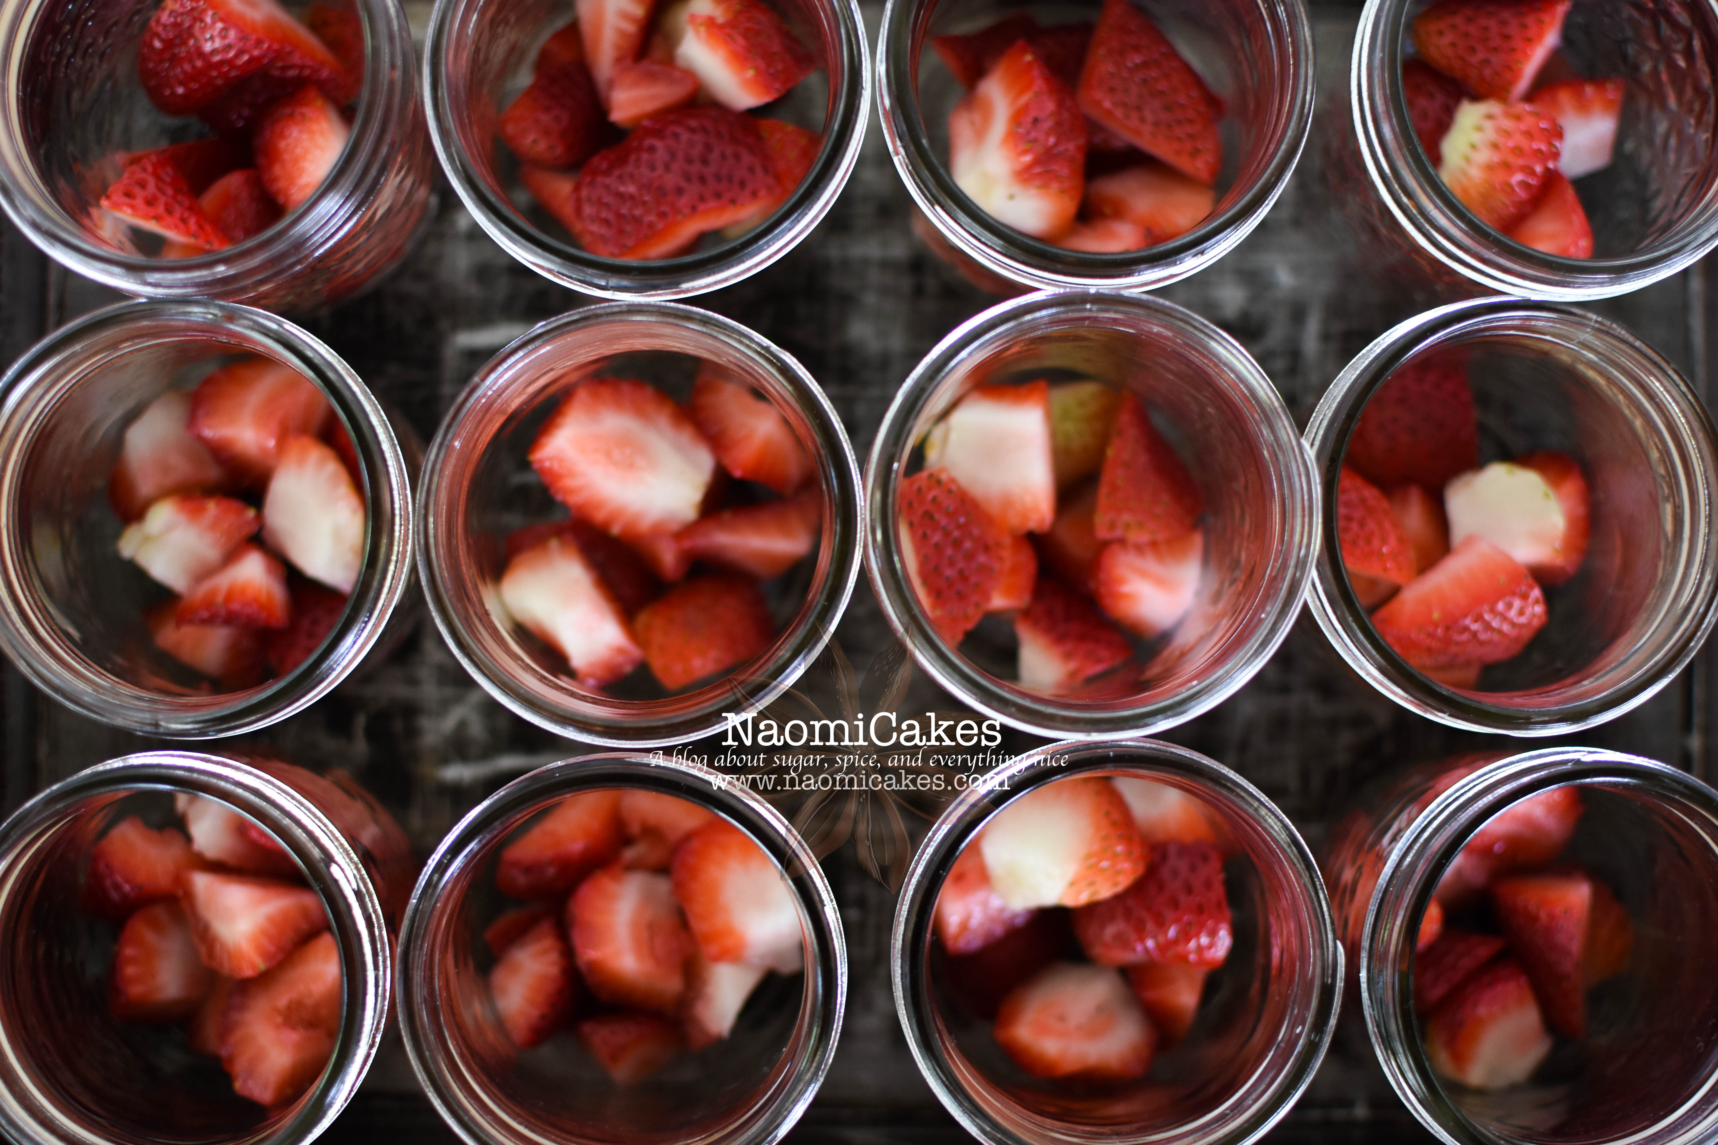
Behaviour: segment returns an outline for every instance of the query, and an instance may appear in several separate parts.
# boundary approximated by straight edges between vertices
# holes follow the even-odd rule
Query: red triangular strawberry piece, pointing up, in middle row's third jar
[[[1103,541],[1172,541],[1194,530],[1204,501],[1175,448],[1134,395],[1122,398],[1098,477],[1093,529]]]

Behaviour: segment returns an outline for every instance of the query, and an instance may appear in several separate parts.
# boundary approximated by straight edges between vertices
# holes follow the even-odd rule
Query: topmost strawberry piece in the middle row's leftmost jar
[[[191,391],[187,427],[216,458],[261,484],[282,443],[321,431],[332,412],[309,378],[283,362],[246,357],[222,366]]]

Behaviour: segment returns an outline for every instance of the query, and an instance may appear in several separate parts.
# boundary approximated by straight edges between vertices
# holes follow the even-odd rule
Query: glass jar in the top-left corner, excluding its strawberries
[[[58,263],[125,294],[306,311],[349,297],[404,257],[430,204],[435,163],[397,0],[352,0],[364,24],[364,89],[352,136],[321,187],[266,232],[186,259],[125,249],[91,213],[119,156],[182,139],[137,81],[144,0],[0,3],[0,206]]]

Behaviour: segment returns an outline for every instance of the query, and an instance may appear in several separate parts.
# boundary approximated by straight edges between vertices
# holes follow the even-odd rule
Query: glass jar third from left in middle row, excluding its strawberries
[[[974,386],[1094,378],[1163,414],[1204,500],[1197,596],[1137,683],[1045,695],[1014,683],[984,625],[948,647],[919,604],[897,529],[926,433]],[[1301,611],[1318,544],[1311,458],[1270,378],[1197,314],[1148,297],[1034,294],[955,328],[914,367],[866,463],[866,570],[890,628],[943,688],[1022,731],[1115,738],[1192,719],[1252,678]]]

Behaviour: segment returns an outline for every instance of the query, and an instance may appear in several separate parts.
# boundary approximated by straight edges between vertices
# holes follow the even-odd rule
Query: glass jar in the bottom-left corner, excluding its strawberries
[[[79,905],[96,839],[122,819],[174,821],[174,795],[244,815],[321,896],[340,954],[333,1052],[295,1100],[232,1092],[182,1030],[108,1011],[115,927]],[[362,1081],[388,1016],[392,930],[412,875],[405,836],[344,776],[271,760],[143,752],[88,767],[0,824],[0,1128],[29,1145],[314,1140]]]

